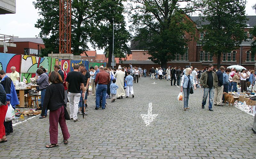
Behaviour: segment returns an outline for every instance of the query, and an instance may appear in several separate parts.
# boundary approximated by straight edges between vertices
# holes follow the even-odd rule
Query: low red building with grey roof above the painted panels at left
[[[45,48],[41,38],[13,38],[13,43],[16,44],[16,47],[7,47],[6,53],[39,56],[41,49]],[[0,47],[0,52],[3,50],[4,47]]]

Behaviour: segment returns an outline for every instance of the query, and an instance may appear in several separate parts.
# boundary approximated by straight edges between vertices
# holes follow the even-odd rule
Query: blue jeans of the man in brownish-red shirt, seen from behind
[[[107,84],[97,84],[98,88],[96,90],[96,108],[100,107],[100,95],[102,93],[102,102],[101,107],[102,109],[105,108],[106,104],[106,94],[107,94]]]

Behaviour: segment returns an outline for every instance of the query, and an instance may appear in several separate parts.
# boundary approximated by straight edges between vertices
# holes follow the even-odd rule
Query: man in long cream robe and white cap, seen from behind
[[[116,71],[116,74],[115,74],[116,84],[118,85],[118,89],[116,90],[116,98],[117,99],[123,99],[123,96],[125,96],[124,75],[125,75],[125,73],[122,71],[122,68],[118,67],[118,71]]]

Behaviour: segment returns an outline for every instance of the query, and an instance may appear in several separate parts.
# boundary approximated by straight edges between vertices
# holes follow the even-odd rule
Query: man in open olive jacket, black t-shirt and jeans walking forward
[[[213,111],[212,109],[212,102],[213,102],[213,94],[214,94],[214,88],[218,85],[218,77],[213,70],[213,65],[210,64],[208,66],[208,70],[202,73],[200,77],[200,83],[204,87],[204,97],[202,101],[202,108],[204,108],[204,105],[206,104],[206,99],[209,94],[209,111]]]

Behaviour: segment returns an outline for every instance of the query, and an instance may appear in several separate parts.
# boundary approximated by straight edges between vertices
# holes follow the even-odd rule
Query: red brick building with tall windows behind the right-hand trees
[[[252,43],[252,35],[249,31],[256,25],[256,16],[247,16],[249,20],[247,20],[247,27],[244,28],[244,33],[247,35],[247,40],[243,41],[240,47],[236,50],[231,51],[230,53],[224,53],[221,57],[221,65],[224,67],[228,67],[230,65],[243,65],[247,69],[254,69],[255,56],[252,56],[251,52],[251,43]],[[190,17],[190,19],[197,26],[197,22],[200,21],[200,17]],[[202,22],[202,25],[207,24],[207,21]],[[198,26],[197,26],[198,27]],[[187,34],[187,37],[190,36]],[[199,39],[204,38],[204,33],[200,33],[199,30],[196,31],[196,36]],[[136,63],[145,63],[145,61],[150,57],[147,54],[148,51],[145,50],[131,50],[131,54],[126,55],[126,62],[136,61]],[[141,62],[139,62],[141,61]],[[148,63],[148,62],[146,62]],[[149,64],[149,63],[148,63]],[[209,64],[213,64],[214,67],[217,67],[217,57],[212,57],[210,53],[205,52],[202,49],[202,46],[197,44],[197,41],[193,40],[188,43],[187,52],[184,55],[176,54],[176,58],[173,61],[168,61],[167,66],[180,66],[180,67],[188,67],[193,66],[194,68],[203,69],[207,67]]]

